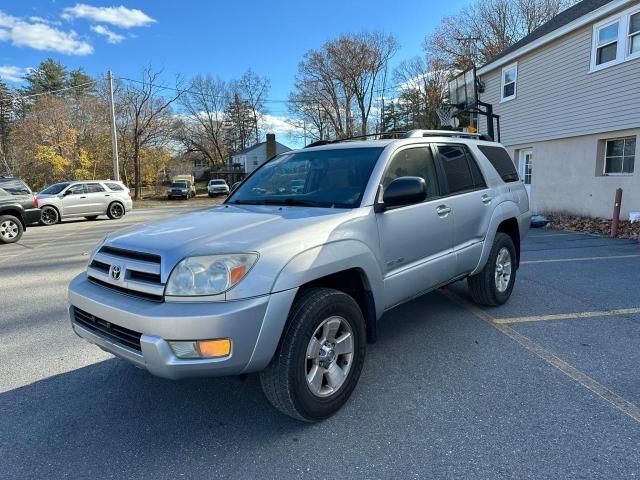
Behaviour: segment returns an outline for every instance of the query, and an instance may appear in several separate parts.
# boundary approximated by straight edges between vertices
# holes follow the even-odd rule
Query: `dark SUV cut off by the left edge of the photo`
[[[38,221],[38,200],[27,184],[0,176],[0,244],[17,242],[27,225]]]

